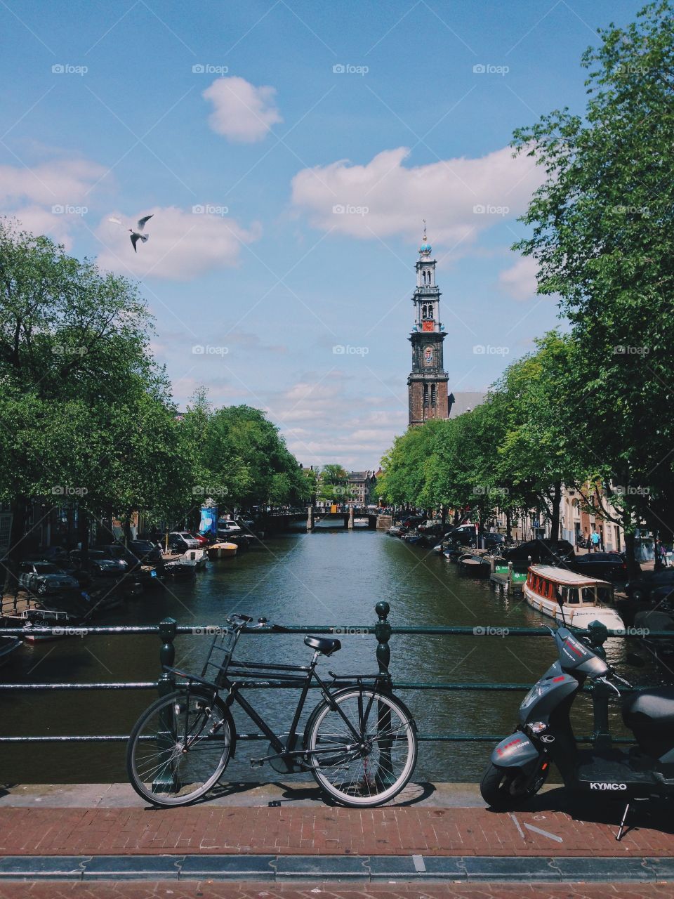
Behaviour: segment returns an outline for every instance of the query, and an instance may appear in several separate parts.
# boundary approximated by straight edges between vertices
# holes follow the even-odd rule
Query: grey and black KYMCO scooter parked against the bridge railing
[[[563,619],[563,600],[558,597]],[[634,690],[626,687],[607,664],[603,648],[607,628],[599,621],[579,636],[564,626],[547,628],[559,659],[528,691],[519,707],[519,726],[492,752],[480,791],[487,805],[507,810],[534,796],[545,783],[550,765],[560,771],[565,788],[625,801],[616,840],[625,829],[635,799],[674,796],[674,687]],[[643,664],[638,656],[628,662]],[[570,712],[574,699],[590,681],[594,713],[593,748],[581,750],[573,735]],[[616,748],[608,731],[608,699],[617,695],[623,721],[635,744]]]

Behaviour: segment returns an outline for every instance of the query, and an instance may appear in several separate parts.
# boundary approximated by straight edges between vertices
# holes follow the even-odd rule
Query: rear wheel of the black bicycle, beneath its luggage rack
[[[381,806],[412,777],[417,759],[414,722],[399,700],[376,690],[342,690],[333,702],[339,711],[323,702],[307,727],[306,759],[312,774],[342,806]]]

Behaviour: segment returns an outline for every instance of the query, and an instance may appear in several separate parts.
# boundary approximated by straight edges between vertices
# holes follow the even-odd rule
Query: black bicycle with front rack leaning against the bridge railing
[[[244,629],[268,627],[266,619],[248,627],[252,620],[239,614],[226,619],[200,677],[164,669],[184,682],[146,708],[131,731],[127,770],[137,794],[162,807],[185,806],[207,794],[235,755],[231,707],[237,703],[270,742],[268,754],[250,760],[253,768],[267,761],[279,773],[310,771],[324,795],[343,806],[371,808],[397,796],[416,764],[417,727],[404,702],[391,692],[390,675],[328,672],[332,681],[324,681],[316,664],[322,655],[337,652],[341,643],[318,636],[305,637],[314,650],[308,665],[233,661]],[[269,628],[288,633],[278,625]],[[208,680],[212,669],[215,677]],[[323,699],[300,735],[299,720],[314,681]],[[244,699],[240,691],[253,686],[300,690],[288,732],[275,734]]]

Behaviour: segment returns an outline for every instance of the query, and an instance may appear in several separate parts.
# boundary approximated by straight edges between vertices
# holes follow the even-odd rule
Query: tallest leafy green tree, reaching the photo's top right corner
[[[599,37],[582,58],[584,116],[554,111],[515,133],[517,151],[545,169],[523,217],[532,235],[516,248],[536,259],[539,292],[558,293],[572,323],[579,457],[620,488],[612,499],[634,572],[640,519],[674,527],[671,4]]]

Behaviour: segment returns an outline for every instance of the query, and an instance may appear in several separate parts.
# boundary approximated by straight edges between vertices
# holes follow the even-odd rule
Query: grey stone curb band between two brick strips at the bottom
[[[670,883],[674,859],[516,856],[5,856],[10,880],[229,880],[346,882]]]

